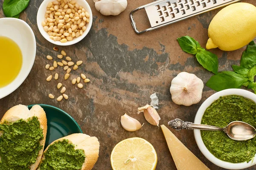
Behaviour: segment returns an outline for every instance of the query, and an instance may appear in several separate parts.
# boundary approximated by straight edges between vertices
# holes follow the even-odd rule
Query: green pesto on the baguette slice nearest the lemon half
[[[67,139],[50,145],[44,156],[41,170],[81,170],[85,160],[84,150],[75,149]]]

